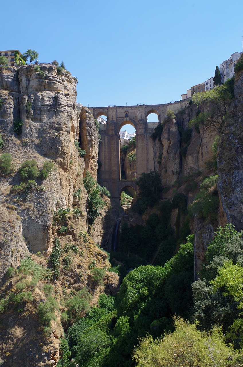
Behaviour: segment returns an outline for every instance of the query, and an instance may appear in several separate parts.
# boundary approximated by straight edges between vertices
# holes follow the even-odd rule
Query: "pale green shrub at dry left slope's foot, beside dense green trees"
[[[76,322],[80,317],[84,316],[90,309],[89,301],[92,296],[86,288],[78,291],[76,295],[66,301],[66,308],[69,320]]]

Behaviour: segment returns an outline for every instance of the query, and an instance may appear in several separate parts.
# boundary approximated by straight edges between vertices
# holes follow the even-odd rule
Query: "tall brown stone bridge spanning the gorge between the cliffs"
[[[185,108],[188,100],[160,105],[137,105],[137,106],[108,106],[89,108],[95,119],[105,115],[106,124],[100,125],[98,160],[102,163],[99,170],[99,183],[106,186],[111,197],[120,203],[120,195],[124,188],[130,186],[137,192],[135,181],[121,180],[120,178],[120,135],[121,128],[131,124],[136,130],[136,167],[137,178],[142,172],[148,173],[155,170],[153,160],[153,146],[151,134],[156,123],[147,123],[150,113],[156,113],[159,123],[166,117],[167,109],[175,113]]]

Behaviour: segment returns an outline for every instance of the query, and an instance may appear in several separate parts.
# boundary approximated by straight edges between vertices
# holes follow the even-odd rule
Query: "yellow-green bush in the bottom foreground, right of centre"
[[[234,350],[223,341],[222,330],[214,328],[201,333],[193,324],[175,319],[174,333],[153,341],[148,335],[140,341],[133,354],[137,367],[210,367],[233,366]]]

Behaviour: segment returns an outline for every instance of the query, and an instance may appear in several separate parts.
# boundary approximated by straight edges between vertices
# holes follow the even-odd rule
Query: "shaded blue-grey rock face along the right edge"
[[[235,76],[235,100],[218,150],[220,224],[243,229],[243,73]]]

